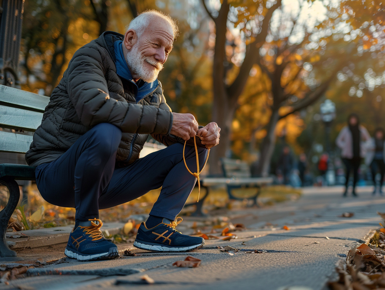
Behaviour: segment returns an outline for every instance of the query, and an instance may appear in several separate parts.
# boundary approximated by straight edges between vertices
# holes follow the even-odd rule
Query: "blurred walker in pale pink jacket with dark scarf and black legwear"
[[[350,171],[353,169],[353,196],[357,196],[355,187],[358,180],[358,168],[362,158],[365,158],[367,143],[370,141],[368,130],[360,125],[360,118],[352,113],[348,117],[348,126],[341,129],[336,139],[337,146],[341,149],[341,159],[346,166],[346,182],[343,196],[348,193]]]

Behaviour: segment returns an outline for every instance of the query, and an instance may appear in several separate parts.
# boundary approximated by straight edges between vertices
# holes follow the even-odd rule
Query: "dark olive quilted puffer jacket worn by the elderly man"
[[[122,130],[117,166],[139,158],[148,134],[167,145],[177,142],[166,136],[171,131],[172,114],[160,82],[136,102],[132,83],[117,75],[113,43],[122,39],[123,35],[107,31],[75,52],[25,154],[29,165],[54,161],[102,122]]]

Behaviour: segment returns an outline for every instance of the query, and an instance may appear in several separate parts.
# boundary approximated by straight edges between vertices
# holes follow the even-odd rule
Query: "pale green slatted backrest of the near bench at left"
[[[28,151],[48,102],[49,97],[0,85],[0,127],[12,129],[0,131],[0,152]]]

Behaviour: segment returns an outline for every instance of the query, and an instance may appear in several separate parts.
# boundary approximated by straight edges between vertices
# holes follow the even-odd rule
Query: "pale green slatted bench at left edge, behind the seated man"
[[[33,132],[42,122],[49,97],[0,85],[0,152],[25,154]],[[7,132],[8,131],[8,132]],[[0,164],[0,184],[9,190],[7,205],[0,211],[0,257],[15,257],[8,248],[5,232],[20,198],[15,180],[35,180],[35,168],[26,164]]]

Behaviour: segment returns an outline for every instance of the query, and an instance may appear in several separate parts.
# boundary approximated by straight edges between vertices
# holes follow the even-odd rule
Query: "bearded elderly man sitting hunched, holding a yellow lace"
[[[45,108],[33,136],[27,163],[36,167],[42,197],[76,209],[75,226],[65,255],[81,261],[115,258],[116,245],[104,238],[99,208],[126,203],[162,186],[134,246],[151,251],[191,251],[200,237],[175,229],[196,179],[183,161],[183,143],[198,135],[201,164],[207,148],[219,142],[219,127],[205,127],[191,114],[171,112],[157,75],[177,35],[164,13],[146,11],[134,18],[125,35],[104,32],[75,52]],[[139,159],[151,134],[166,149]],[[191,138],[191,139],[190,139]],[[195,138],[195,137],[194,137]],[[186,146],[189,168],[195,148]]]

